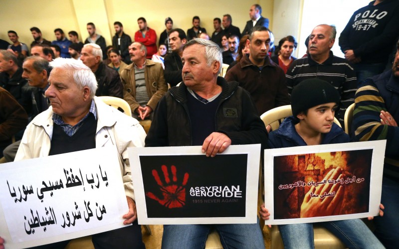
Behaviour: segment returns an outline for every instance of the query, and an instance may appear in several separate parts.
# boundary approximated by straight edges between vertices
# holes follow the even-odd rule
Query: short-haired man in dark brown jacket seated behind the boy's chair
[[[230,39],[229,39],[230,41]],[[249,57],[227,71],[228,81],[237,81],[255,102],[259,116],[273,108],[289,104],[284,71],[268,56],[270,32],[264,26],[255,26],[246,41]]]

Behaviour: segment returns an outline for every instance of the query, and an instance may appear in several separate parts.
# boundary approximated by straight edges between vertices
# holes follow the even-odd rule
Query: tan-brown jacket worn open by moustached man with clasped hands
[[[121,72],[121,80],[123,83],[123,99],[129,103],[132,112],[134,112],[140,105],[136,101],[136,81],[134,78],[135,63],[130,64]],[[147,93],[150,101],[147,106],[154,111],[158,102],[168,90],[168,85],[164,78],[164,69],[162,64],[146,60],[146,67],[144,72],[146,80]]]

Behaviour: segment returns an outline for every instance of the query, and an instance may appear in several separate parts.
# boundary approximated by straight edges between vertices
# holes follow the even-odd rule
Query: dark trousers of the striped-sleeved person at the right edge
[[[374,217],[375,234],[386,248],[398,248],[399,242],[399,183],[383,177],[381,203],[384,216]]]

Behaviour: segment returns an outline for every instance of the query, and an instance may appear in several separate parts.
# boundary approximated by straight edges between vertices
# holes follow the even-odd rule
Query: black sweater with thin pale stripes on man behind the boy
[[[319,64],[308,55],[308,57],[295,60],[285,77],[287,78],[290,96],[293,87],[306,79],[318,78],[331,83],[341,96],[338,112],[335,116],[344,128],[345,111],[354,103],[357,90],[356,72],[347,60],[334,56],[333,52],[330,51],[330,57]]]

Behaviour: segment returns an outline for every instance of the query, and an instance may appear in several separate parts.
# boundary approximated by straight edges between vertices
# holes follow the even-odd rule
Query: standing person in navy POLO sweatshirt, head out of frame
[[[374,0],[355,11],[339,38],[358,83],[381,74],[399,36],[399,1]]]

